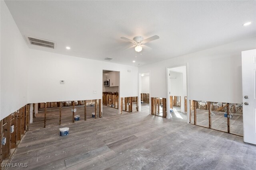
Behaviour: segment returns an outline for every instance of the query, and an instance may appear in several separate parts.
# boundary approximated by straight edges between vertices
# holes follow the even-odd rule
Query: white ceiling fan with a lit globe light
[[[140,51],[142,51],[142,46],[148,47],[145,44],[148,43],[149,41],[153,41],[153,40],[159,39],[159,36],[158,35],[154,35],[154,36],[149,37],[147,39],[143,39],[143,37],[141,37],[141,36],[134,37],[133,40],[128,39],[126,37],[121,37],[121,39],[124,39],[126,41],[130,41],[130,42],[134,43],[134,45],[132,45],[131,47],[128,47],[126,49],[130,49],[132,47],[135,47],[135,51],[136,52],[140,52]]]

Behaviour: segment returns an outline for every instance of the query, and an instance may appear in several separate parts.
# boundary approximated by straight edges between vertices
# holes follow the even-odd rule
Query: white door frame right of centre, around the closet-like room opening
[[[170,66],[170,67],[166,67],[166,111],[167,111],[167,116],[166,118],[167,119],[170,119],[171,118],[171,114],[170,114],[170,76],[169,76],[169,72],[170,72],[170,69],[171,68],[176,68],[176,67],[180,67],[180,66],[186,66],[186,89],[187,89],[187,123],[189,124],[189,115],[190,115],[190,105],[188,104],[189,103],[189,90],[188,90],[188,63],[186,64],[177,64],[177,65],[174,65],[174,66]]]

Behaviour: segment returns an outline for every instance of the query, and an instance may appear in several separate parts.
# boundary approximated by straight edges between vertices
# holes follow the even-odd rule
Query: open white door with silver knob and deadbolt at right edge
[[[256,145],[256,49],[242,51],[244,142]]]

